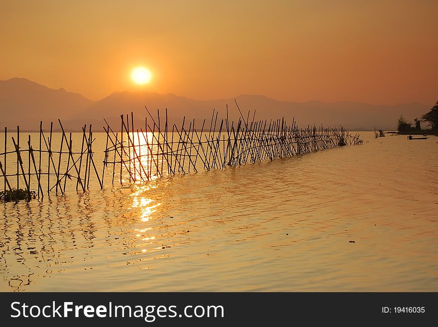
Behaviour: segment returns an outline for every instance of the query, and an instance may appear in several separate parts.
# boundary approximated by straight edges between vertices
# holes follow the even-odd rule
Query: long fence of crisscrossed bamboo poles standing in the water
[[[112,185],[115,182],[144,183],[165,175],[224,169],[337,146],[362,144],[359,135],[352,135],[342,127],[307,126],[301,129],[296,126],[295,119],[290,125],[284,117],[255,120],[255,111],[252,117],[249,111],[244,117],[237,108],[240,117],[236,122],[229,120],[228,108],[226,117],[220,121],[218,111],[213,110],[212,118],[209,121],[204,119],[201,128],[195,125],[195,119],[186,121],[186,117],[181,126],[170,126],[167,109],[165,116],[161,117],[159,109],[153,116],[146,107],[148,116],[144,120],[144,130],[143,126],[134,127],[132,112],[120,115],[117,130],[104,119],[106,145],[104,159],[98,163],[94,160],[92,149],[95,141],[92,125],[82,127],[81,148],[75,151],[72,133],[65,132],[59,119],[62,135],[56,149],[53,122],[49,131],[44,132],[41,121],[39,138],[34,141],[28,135],[24,144],[20,143],[19,126],[12,135],[5,128],[4,151],[0,153],[3,189],[12,191],[23,186],[28,193],[36,189],[35,193],[42,198],[45,193],[64,194],[67,181],[72,181],[73,186],[76,184],[77,191],[85,192],[90,187],[91,178],[100,188],[104,187],[106,176],[111,178]],[[8,135],[12,141],[9,149]],[[13,161],[10,156],[13,156]],[[9,167],[11,162],[14,163],[12,168]],[[102,167],[99,167],[101,164]]]

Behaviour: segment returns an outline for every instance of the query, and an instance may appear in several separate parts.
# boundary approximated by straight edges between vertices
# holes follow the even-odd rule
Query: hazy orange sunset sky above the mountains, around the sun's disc
[[[0,1],[0,80],[99,100],[143,65],[194,99],[438,100],[436,0]]]

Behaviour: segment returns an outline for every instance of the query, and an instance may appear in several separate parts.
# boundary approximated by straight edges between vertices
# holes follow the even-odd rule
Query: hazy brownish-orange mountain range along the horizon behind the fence
[[[0,127],[6,125],[14,128],[18,124],[22,129],[36,130],[40,120],[44,120],[47,125],[50,120],[60,118],[66,128],[80,130],[83,124],[92,123],[94,130],[98,131],[105,124],[105,117],[111,127],[117,129],[120,114],[133,111],[136,128],[144,129],[144,117],[148,117],[144,106],[154,115],[159,108],[161,121],[164,120],[164,109],[168,108],[170,123],[176,123],[178,127],[181,126],[183,116],[186,116],[186,126],[196,118],[197,127],[201,128],[203,119],[206,119],[206,126],[210,127],[214,108],[219,111],[218,117],[223,118],[226,115],[225,106],[228,105],[229,118],[238,118],[234,99],[245,119],[250,109],[251,120],[256,109],[256,120],[284,116],[291,123],[295,117],[301,127],[323,123],[325,126],[341,124],[349,129],[373,129],[377,126],[389,130],[396,128],[401,114],[412,121],[430,109],[430,106],[418,103],[378,106],[355,102],[284,102],[260,95],[200,101],[151,92],[118,92],[100,101],[91,101],[64,89],[53,90],[26,79],[13,78],[0,81]]]

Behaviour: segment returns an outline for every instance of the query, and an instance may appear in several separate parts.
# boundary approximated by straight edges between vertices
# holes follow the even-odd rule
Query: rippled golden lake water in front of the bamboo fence
[[[437,292],[438,137],[361,136],[1,204],[0,291]]]

